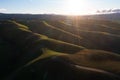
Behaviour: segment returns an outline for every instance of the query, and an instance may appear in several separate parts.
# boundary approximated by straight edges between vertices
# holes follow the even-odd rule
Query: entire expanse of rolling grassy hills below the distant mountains
[[[120,80],[119,41],[110,21],[0,21],[0,79]]]

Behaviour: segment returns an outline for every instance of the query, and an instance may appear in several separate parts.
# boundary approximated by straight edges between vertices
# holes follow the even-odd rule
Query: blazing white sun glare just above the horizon
[[[69,15],[82,15],[87,14],[87,1],[86,0],[66,0],[65,13]]]

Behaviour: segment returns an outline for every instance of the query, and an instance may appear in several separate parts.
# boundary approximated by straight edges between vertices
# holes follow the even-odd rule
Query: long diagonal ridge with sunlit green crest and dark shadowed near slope
[[[9,24],[9,26],[6,26],[6,24]],[[35,58],[35,56],[37,57],[43,53],[42,49],[44,48],[62,53],[75,53],[84,49],[84,47],[81,46],[50,39],[47,36],[22,29],[21,25],[18,25],[18,23],[14,24],[13,22],[5,22],[2,24],[0,33],[5,39],[15,43],[25,53],[22,54],[24,57],[31,56]]]

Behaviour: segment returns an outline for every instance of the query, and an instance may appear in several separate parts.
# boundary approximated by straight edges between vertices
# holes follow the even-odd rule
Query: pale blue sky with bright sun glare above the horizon
[[[1,13],[84,15],[109,9],[120,9],[120,0],[0,0]]]

